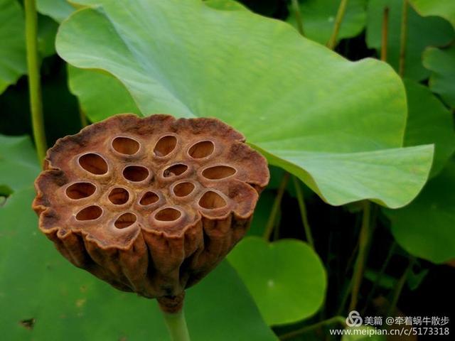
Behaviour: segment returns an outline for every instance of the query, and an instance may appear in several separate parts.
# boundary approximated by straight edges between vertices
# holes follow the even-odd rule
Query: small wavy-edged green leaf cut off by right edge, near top
[[[455,45],[444,50],[427,48],[424,66],[432,70],[429,78],[432,92],[439,94],[446,104],[455,108]]]

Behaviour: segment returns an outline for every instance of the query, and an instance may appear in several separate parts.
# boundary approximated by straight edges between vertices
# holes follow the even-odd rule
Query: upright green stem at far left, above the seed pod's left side
[[[35,139],[36,151],[40,163],[45,158],[48,149],[45,142],[43,121],[43,102],[41,99],[40,67],[38,61],[37,29],[38,17],[36,13],[36,1],[23,1],[26,13],[26,49],[28,69],[28,90],[30,92],[31,121],[33,126],[33,138]]]

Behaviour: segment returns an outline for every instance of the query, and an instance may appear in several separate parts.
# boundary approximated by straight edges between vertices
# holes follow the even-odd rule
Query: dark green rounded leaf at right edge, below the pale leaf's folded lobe
[[[385,210],[398,244],[414,256],[434,263],[455,258],[455,161],[407,207]]]

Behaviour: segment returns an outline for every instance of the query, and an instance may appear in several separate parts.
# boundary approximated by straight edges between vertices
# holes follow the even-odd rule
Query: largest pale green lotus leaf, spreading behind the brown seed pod
[[[198,0],[134,0],[129,11],[106,1],[63,22],[57,50],[112,73],[142,114],[223,119],[331,204],[399,207],[427,178],[432,146],[399,148],[406,104],[395,72],[349,62],[286,23]]]

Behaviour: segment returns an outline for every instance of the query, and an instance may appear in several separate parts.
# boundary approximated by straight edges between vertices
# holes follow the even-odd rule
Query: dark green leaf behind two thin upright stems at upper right
[[[398,70],[400,58],[400,32],[402,0],[368,1],[367,44],[370,48],[381,48],[382,13],[389,7],[387,35],[387,62]],[[409,8],[407,25],[407,45],[405,58],[405,77],[424,80],[429,70],[422,65],[422,53],[427,46],[442,46],[454,39],[454,28],[443,18],[435,16],[423,18]]]

